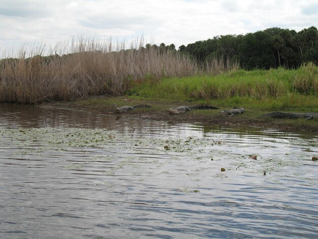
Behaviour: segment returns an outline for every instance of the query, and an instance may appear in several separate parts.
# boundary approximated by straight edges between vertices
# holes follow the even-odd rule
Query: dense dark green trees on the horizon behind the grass
[[[179,51],[203,63],[215,57],[236,59],[246,70],[298,68],[307,62],[318,64],[318,31],[314,26],[298,33],[273,27],[246,35],[216,36],[182,45]]]

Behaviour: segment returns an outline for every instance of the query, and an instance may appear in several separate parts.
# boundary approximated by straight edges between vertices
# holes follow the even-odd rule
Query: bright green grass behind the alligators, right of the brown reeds
[[[128,94],[148,101],[192,100],[219,107],[318,112],[318,67],[308,64],[297,70],[238,70],[217,76],[166,78],[136,84]]]

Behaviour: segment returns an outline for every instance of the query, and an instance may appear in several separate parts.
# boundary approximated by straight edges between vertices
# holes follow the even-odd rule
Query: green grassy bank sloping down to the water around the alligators
[[[131,101],[125,101],[129,99]],[[123,96],[94,97],[69,102],[97,112],[113,112],[118,106],[147,104],[152,108],[134,113],[158,113],[157,119],[167,119],[166,110],[180,105],[208,104],[219,110],[194,110],[180,115],[190,121],[211,121],[224,124],[255,125],[281,129],[318,130],[318,119],[282,119],[261,117],[269,112],[318,112],[318,68],[312,64],[297,70],[237,70],[216,76],[172,77],[162,80],[138,81]],[[246,113],[222,117],[220,110],[243,107]],[[108,108],[107,108],[108,107]],[[166,114],[165,114],[166,112]],[[195,116],[195,117],[193,117]],[[151,118],[151,117],[150,117]]]

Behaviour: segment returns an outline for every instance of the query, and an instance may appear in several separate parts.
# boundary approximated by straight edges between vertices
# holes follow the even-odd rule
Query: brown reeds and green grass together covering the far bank
[[[127,49],[124,43],[79,38],[53,47],[49,54],[41,47],[30,52],[21,48],[16,58],[0,60],[0,102],[77,100],[74,104],[101,112],[114,103],[153,106],[139,109],[144,112],[179,105],[237,106],[247,109],[241,122],[271,111],[318,112],[318,67],[312,63],[294,70],[245,71],[224,59],[201,66],[177,51],[142,45]],[[210,117],[218,111],[188,114]],[[316,120],[268,122],[317,129]]]

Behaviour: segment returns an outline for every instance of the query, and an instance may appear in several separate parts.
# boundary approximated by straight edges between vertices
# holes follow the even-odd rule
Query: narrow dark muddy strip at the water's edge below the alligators
[[[310,131],[318,132],[318,121],[314,120],[313,124],[303,125],[297,123],[298,119],[285,120],[285,119],[274,119],[274,118],[260,118],[253,117],[250,111],[246,110],[247,113],[235,115],[233,117],[219,115],[221,109],[215,110],[193,110],[187,111],[183,114],[169,114],[167,108],[177,107],[182,104],[173,103],[167,104],[162,102],[152,102],[152,105],[160,105],[160,108],[153,107],[150,109],[136,109],[130,110],[124,113],[116,113],[112,105],[96,105],[96,104],[83,104],[82,102],[50,102],[43,103],[40,107],[54,107],[54,108],[65,108],[74,110],[84,110],[90,113],[114,115],[117,119],[124,118],[138,118],[142,120],[151,121],[168,121],[173,123],[202,123],[212,124],[219,126],[253,126],[268,129],[280,129],[283,131]],[[183,103],[184,104],[184,103]],[[132,104],[123,104],[132,105]],[[166,108],[165,108],[166,107]],[[248,113],[249,111],[249,113]]]

